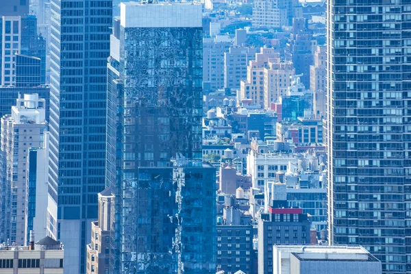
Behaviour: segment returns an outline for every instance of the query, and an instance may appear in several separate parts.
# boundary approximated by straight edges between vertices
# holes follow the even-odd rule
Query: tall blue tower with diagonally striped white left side
[[[112,1],[52,0],[51,7],[49,219],[65,245],[64,271],[81,274],[105,188]]]

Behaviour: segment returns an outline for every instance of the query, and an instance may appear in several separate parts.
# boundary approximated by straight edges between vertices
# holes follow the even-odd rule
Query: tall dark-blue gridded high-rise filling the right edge
[[[327,5],[329,241],[411,271],[411,5]]]

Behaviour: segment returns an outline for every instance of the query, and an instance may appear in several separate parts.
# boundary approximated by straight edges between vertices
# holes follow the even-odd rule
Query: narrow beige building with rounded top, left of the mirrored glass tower
[[[106,188],[99,195],[99,219],[91,224],[91,242],[87,245],[87,274],[105,274],[110,269],[110,233],[114,195]]]

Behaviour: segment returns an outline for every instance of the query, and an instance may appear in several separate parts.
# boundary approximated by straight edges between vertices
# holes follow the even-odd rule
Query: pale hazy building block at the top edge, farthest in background
[[[281,29],[292,25],[292,18],[302,15],[301,5],[296,0],[256,0],[252,23],[253,27]]]

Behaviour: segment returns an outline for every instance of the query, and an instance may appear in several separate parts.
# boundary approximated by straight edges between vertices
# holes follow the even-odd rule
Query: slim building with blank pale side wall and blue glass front
[[[29,232],[36,232],[36,237],[47,236],[47,201],[49,188],[49,132],[45,132],[41,147],[30,147],[27,155],[27,208],[26,240]]]

